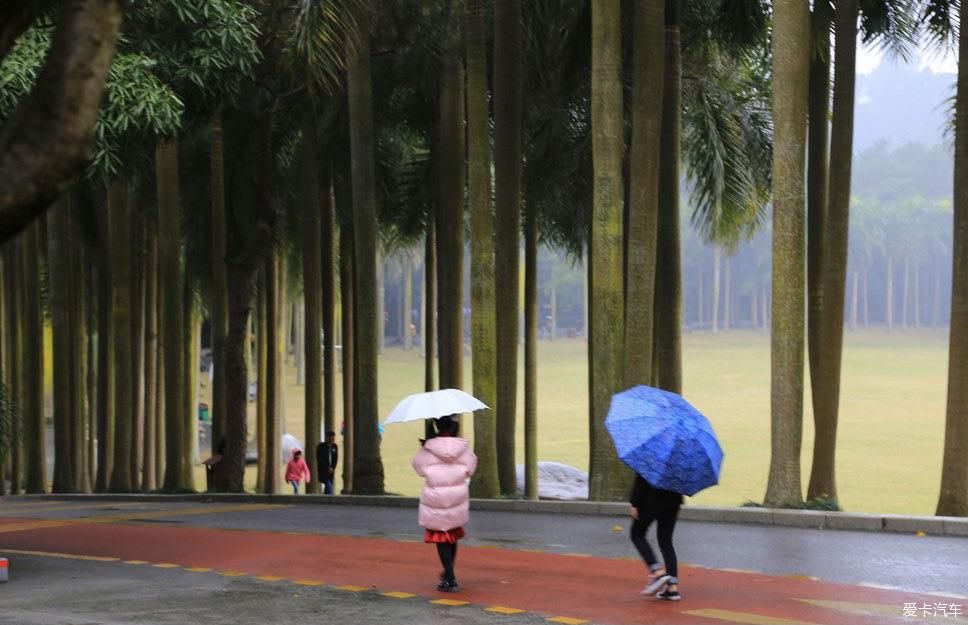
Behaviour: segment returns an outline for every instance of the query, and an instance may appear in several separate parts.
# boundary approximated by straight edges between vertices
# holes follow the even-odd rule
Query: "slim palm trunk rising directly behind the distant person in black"
[[[322,218],[322,333],[323,333],[323,425],[336,431],[336,190],[332,166],[329,171],[326,209]],[[315,453],[313,454],[315,455]]]

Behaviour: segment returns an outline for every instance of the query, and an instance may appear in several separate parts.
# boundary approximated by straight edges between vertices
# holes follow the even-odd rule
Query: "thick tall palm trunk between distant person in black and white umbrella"
[[[378,327],[383,312],[376,293],[376,149],[373,131],[373,84],[370,75],[370,11],[360,12],[360,41],[350,46],[347,59],[347,94],[350,109],[350,152],[353,189],[353,269],[356,335],[353,492],[383,493],[383,460],[377,433]],[[463,154],[463,152],[461,152]],[[463,162],[463,158],[456,159]],[[379,326],[378,326],[379,324]]]

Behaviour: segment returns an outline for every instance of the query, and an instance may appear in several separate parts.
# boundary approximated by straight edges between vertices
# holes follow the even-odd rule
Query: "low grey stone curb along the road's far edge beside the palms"
[[[161,494],[63,494],[18,495],[0,497],[0,510],[5,501],[57,499],[62,501],[184,501],[197,503],[264,503],[315,504],[329,506],[380,506],[416,508],[416,497],[393,495],[257,495],[235,493]],[[530,514],[566,514],[575,516],[625,516],[628,504],[598,501],[526,501],[520,499],[472,499],[472,510],[518,512]],[[2,515],[2,512],[0,512]],[[819,530],[845,530],[918,534],[926,536],[968,537],[968,518],[940,516],[907,516],[898,514],[863,514],[816,510],[780,510],[771,508],[723,508],[683,506],[683,521],[697,523],[736,523],[797,527]]]

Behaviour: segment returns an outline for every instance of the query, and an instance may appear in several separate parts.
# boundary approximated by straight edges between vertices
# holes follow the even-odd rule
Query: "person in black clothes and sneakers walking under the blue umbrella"
[[[632,529],[629,537],[638,550],[639,555],[649,567],[651,576],[643,595],[653,595],[666,601],[679,601],[679,566],[676,560],[676,549],[672,544],[672,533],[676,528],[679,508],[682,507],[682,495],[670,490],[655,488],[641,475],[635,476],[635,484],[629,495],[629,514],[632,517]],[[662,552],[664,565],[659,563],[645,539],[645,533],[652,523],[656,523],[656,538],[659,551]],[[661,592],[660,592],[661,591]]]

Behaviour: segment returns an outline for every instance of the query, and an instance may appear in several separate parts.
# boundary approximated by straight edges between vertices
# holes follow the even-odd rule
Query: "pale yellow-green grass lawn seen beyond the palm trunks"
[[[721,484],[694,500],[738,506],[760,501],[770,461],[769,336],[753,332],[684,337],[684,391],[709,416],[726,453]],[[466,363],[470,388],[470,361]],[[841,504],[846,510],[932,514],[944,437],[947,341],[941,332],[846,334],[838,452]],[[287,430],[303,438],[303,389],[288,371]],[[423,390],[418,350],[386,349],[380,358],[381,418],[407,394]],[[809,388],[809,384],[807,386]],[[542,342],[538,372],[540,460],[588,468],[586,344]],[[517,458],[523,461],[519,399]],[[341,411],[341,407],[338,407]],[[338,413],[338,414],[341,414]],[[468,421],[465,432],[472,436]],[[421,424],[394,425],[383,438],[389,492],[414,495],[420,480],[410,458]],[[803,484],[809,480],[813,422],[805,400]],[[254,476],[247,480],[254,483]],[[200,483],[201,484],[201,483]]]

